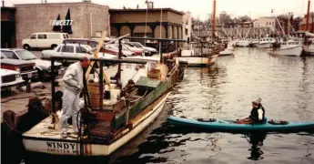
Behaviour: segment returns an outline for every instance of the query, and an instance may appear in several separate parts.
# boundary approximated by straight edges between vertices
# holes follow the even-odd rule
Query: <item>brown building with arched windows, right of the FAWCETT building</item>
[[[111,36],[130,34],[130,36],[142,37],[146,32],[147,37],[160,38],[161,28],[161,38],[182,39],[183,37],[184,13],[171,8],[163,8],[162,13],[161,8],[109,9],[109,13]]]

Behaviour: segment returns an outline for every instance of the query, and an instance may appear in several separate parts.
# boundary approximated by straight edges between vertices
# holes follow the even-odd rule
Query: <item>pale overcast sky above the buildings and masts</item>
[[[34,4],[41,3],[42,0],[5,0],[6,5],[14,4]],[[46,0],[47,3],[81,2],[82,0]],[[189,11],[192,16],[202,20],[208,17],[213,10],[213,0],[151,0],[154,7],[170,7],[179,11]],[[126,7],[145,8],[145,0],[92,0],[95,4],[108,5],[110,8]],[[221,11],[226,11],[232,17],[238,15],[250,15],[252,18],[259,16],[269,16],[271,9],[275,9],[274,14],[287,14],[293,12],[295,16],[304,16],[307,13],[308,0],[217,0],[217,15]],[[309,7],[310,12],[314,11],[314,0]]]

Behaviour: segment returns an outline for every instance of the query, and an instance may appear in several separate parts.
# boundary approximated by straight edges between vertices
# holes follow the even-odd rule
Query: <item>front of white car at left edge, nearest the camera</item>
[[[11,90],[11,87],[18,87],[25,83],[17,71],[0,68],[0,74],[1,90]]]

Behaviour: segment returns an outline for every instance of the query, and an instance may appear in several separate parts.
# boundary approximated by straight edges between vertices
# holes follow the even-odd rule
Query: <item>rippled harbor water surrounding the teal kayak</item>
[[[314,121],[314,57],[270,56],[266,49],[237,47],[235,56],[219,56],[211,67],[188,67],[151,126],[111,156],[88,163],[314,163],[312,132],[232,134],[167,125],[168,116],[246,118],[258,97],[268,119]]]

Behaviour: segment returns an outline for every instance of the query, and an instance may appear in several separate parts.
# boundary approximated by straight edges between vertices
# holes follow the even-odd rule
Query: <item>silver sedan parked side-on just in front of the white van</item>
[[[94,56],[92,54],[93,48],[88,45],[77,45],[77,44],[60,44],[53,50],[44,50],[42,51],[42,59],[50,59],[50,56]],[[105,54],[105,53],[98,53],[98,57],[104,58],[116,58],[115,55]],[[67,65],[70,63],[76,62],[76,60],[63,60],[60,61],[63,64]]]

